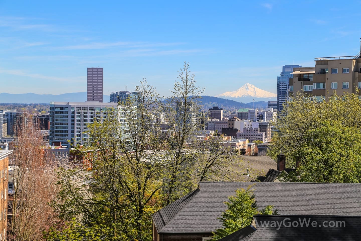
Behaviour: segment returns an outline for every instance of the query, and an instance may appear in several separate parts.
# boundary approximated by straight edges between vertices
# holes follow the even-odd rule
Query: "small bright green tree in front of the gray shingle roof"
[[[223,212],[221,218],[218,218],[222,221],[223,228],[219,228],[213,233],[213,240],[219,240],[251,224],[253,215],[278,214],[278,210],[273,211],[271,205],[266,206],[260,212],[258,211],[252,185],[248,186],[247,189],[237,189],[236,195],[230,196],[229,200],[226,202],[227,210]]]

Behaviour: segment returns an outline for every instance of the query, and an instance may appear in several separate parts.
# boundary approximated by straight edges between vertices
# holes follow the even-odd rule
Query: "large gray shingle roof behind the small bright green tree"
[[[153,214],[158,233],[214,232],[235,190],[253,188],[258,208],[282,215],[361,215],[361,184],[296,182],[200,182],[193,191]]]

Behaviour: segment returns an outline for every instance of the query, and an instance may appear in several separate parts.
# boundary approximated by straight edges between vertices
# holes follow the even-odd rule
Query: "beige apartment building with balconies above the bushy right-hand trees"
[[[331,95],[358,93],[361,89],[361,51],[355,56],[315,58],[315,67],[294,68],[290,97],[304,91],[311,100],[322,102]]]

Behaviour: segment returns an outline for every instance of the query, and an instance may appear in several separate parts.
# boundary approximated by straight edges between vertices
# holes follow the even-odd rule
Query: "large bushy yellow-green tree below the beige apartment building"
[[[361,102],[355,94],[311,102],[299,94],[277,121],[269,155],[282,152],[297,171],[285,181],[360,182]]]

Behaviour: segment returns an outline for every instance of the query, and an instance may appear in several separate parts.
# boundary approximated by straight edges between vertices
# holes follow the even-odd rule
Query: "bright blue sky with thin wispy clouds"
[[[361,1],[0,0],[0,92],[104,94],[143,78],[163,96],[190,63],[205,95],[249,82],[276,92],[282,65],[360,51]]]

